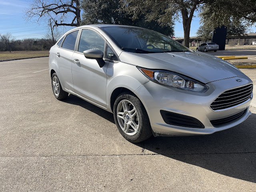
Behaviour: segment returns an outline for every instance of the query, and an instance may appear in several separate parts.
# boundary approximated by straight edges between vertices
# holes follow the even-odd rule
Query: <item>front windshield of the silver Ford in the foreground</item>
[[[122,50],[134,53],[187,52],[188,48],[161,33],[129,26],[101,27]]]

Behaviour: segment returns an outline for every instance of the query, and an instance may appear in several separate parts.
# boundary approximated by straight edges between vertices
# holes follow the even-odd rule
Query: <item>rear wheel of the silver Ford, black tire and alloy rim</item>
[[[68,93],[62,90],[60,80],[56,73],[52,74],[52,92],[58,100],[64,100],[68,97]]]

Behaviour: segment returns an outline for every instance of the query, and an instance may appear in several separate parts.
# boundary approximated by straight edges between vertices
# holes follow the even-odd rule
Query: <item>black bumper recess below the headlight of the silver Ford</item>
[[[189,128],[204,128],[204,125],[196,118],[160,110],[164,122],[169,125],[189,127]]]

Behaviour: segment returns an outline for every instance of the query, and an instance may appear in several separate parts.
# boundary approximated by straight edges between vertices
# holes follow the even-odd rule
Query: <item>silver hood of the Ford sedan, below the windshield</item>
[[[216,56],[201,52],[169,52],[139,54],[122,52],[121,62],[143,68],[169,70],[203,83],[243,75],[232,64]]]

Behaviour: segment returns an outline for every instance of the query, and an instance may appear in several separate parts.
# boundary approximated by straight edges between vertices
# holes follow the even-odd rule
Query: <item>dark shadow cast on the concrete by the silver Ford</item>
[[[113,114],[76,96],[66,103],[79,105],[114,123]],[[186,137],[151,137],[135,144],[146,154],[161,154],[174,160],[256,183],[256,114],[243,123],[210,135]],[[118,130],[116,130],[118,131]]]

